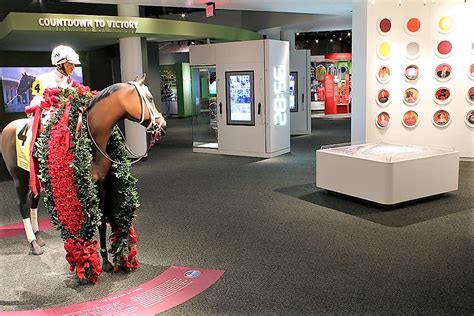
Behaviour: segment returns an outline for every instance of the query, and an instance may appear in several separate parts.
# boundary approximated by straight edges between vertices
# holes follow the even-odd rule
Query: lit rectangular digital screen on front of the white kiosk
[[[253,72],[227,73],[227,123],[254,124]]]

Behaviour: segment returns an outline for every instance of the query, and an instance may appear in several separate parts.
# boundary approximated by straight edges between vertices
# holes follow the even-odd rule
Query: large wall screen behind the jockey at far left
[[[31,85],[36,77],[54,69],[55,67],[0,67],[5,112],[23,112],[33,99]],[[71,78],[82,83],[82,67],[76,67]]]

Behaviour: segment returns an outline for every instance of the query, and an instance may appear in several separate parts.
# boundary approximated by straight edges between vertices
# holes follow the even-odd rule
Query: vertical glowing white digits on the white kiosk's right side
[[[287,121],[287,72],[283,65],[273,68],[273,109],[275,126],[285,126]]]

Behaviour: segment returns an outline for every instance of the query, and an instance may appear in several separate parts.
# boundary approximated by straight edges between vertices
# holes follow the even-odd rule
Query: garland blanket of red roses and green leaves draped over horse
[[[46,89],[40,107],[42,111],[51,110],[52,116],[38,133],[32,151],[32,158],[37,159],[45,206],[53,226],[65,241],[70,270],[76,272],[79,280],[92,283],[97,282],[102,272],[99,246],[94,239],[102,213],[97,187],[91,177],[93,151],[85,111],[95,95],[95,91],[77,82],[71,82],[71,87],[66,89]],[[117,127],[110,135],[107,151],[113,160],[129,162]],[[108,220],[112,227],[109,252],[114,271],[131,271],[138,267],[138,238],[132,226],[139,206],[136,182],[129,164],[112,164],[107,201],[112,202]]]

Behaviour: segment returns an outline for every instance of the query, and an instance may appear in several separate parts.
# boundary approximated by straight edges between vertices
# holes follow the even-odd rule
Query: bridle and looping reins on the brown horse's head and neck
[[[102,149],[100,149],[99,145],[97,144],[97,142],[95,141],[94,137],[92,136],[92,133],[90,131],[90,128],[89,128],[89,115],[87,115],[86,117],[86,128],[87,128],[87,132],[89,134],[89,137],[91,138],[92,140],[92,143],[94,144],[95,148],[97,148],[97,150],[102,154],[102,156],[104,156],[107,160],[109,160],[110,162],[112,163],[116,163],[116,164],[119,164],[119,165],[131,165],[131,164],[134,164],[134,163],[137,163],[139,162],[140,160],[142,160],[146,155],[148,155],[148,152],[150,151],[151,147],[161,138],[161,136],[165,133],[164,129],[163,129],[163,123],[164,123],[164,119],[161,120],[160,124],[157,124],[156,123],[156,119],[159,119],[159,118],[163,118],[163,115],[161,115],[161,113],[159,113],[156,108],[152,105],[152,103],[148,100],[148,98],[145,96],[145,93],[143,92],[143,88],[141,87],[141,85],[138,84],[138,82],[136,81],[128,81],[128,84],[132,85],[135,90],[137,91],[137,94],[138,94],[138,97],[140,98],[140,120],[136,120],[135,122],[136,123],[139,123],[140,125],[142,125],[142,123],[145,121],[145,107],[146,109],[148,110],[148,114],[150,116],[150,123],[148,124],[148,126],[146,126],[146,133],[147,134],[152,134],[152,138],[151,138],[151,141],[148,142],[148,146],[147,146],[147,150],[145,151],[145,153],[141,156],[138,156],[137,154],[135,154],[131,149],[130,147],[128,147],[126,144],[125,144],[125,147],[127,148],[127,151],[132,154],[133,156],[136,157],[136,160],[132,161],[132,162],[121,162],[121,161],[116,161],[114,159],[112,159],[109,155],[107,155],[107,153],[105,153]],[[89,109],[87,109],[89,110]],[[86,110],[86,111],[87,111]],[[143,125],[142,125],[143,126]],[[120,128],[118,128],[118,131],[120,133],[120,135],[122,136],[123,139],[125,139],[125,136],[123,135],[122,131],[120,130]]]

